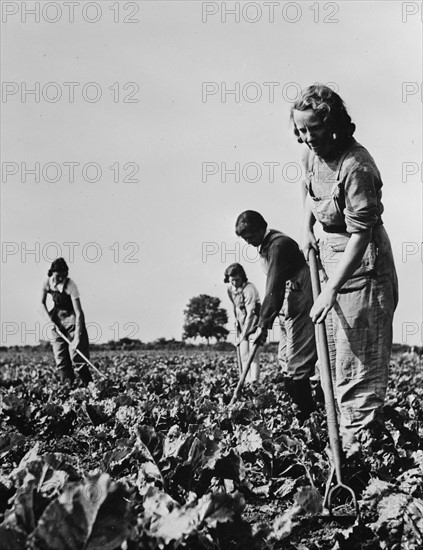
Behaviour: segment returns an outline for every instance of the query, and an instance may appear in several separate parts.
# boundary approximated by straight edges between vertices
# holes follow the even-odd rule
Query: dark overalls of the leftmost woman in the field
[[[54,302],[53,310],[50,312],[52,320],[60,331],[72,341],[75,336],[75,311],[72,298],[65,292],[68,281],[69,279],[66,279],[64,282],[62,291],[49,288],[48,293]],[[75,365],[75,369],[84,382],[88,383],[92,380],[84,360],[56,331],[52,331],[51,346],[61,380],[75,378],[72,364]],[[78,349],[89,358],[88,333],[85,325],[79,338]]]

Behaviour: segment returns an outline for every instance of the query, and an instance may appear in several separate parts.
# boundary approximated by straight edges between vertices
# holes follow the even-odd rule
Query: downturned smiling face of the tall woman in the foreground
[[[294,109],[293,118],[299,137],[317,156],[324,157],[333,149],[335,145],[333,133],[313,109],[306,111]]]

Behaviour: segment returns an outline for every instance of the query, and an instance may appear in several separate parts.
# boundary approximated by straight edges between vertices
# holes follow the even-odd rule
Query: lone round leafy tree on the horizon
[[[210,343],[210,338],[226,340],[229,331],[225,326],[228,322],[228,314],[225,309],[219,307],[219,298],[200,294],[191,298],[187,309],[184,311],[184,333],[182,338],[205,338]]]

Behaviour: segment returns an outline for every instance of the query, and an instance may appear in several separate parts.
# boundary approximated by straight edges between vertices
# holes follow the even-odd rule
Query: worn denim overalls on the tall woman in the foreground
[[[324,230],[319,240],[323,284],[336,271],[351,236],[343,213],[345,190],[341,172],[345,158],[357,145],[348,147],[340,155],[327,195],[316,197],[313,192],[313,184],[319,181],[318,159],[312,159],[308,172],[309,204]],[[371,242],[359,267],[339,290],[327,317],[331,368],[345,451],[351,448],[362,428],[373,420],[381,420],[397,302],[398,282],[391,245],[380,220],[372,229]]]

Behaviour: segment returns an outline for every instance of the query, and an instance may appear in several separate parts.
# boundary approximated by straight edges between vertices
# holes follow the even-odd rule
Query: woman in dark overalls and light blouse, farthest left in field
[[[55,330],[52,331],[51,345],[60,379],[73,382],[75,367],[82,382],[87,385],[92,381],[92,377],[88,365],[76,350],[89,358],[88,333],[78,288],[68,274],[69,268],[65,260],[54,260],[48,271],[48,278],[43,284],[41,302],[48,318],[71,341],[69,345]],[[50,311],[47,308],[48,295],[54,303]]]

